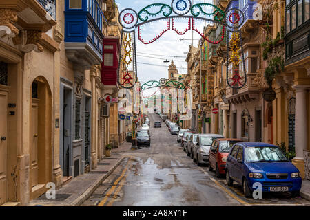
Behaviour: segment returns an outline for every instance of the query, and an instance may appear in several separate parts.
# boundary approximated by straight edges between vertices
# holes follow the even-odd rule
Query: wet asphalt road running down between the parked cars
[[[226,185],[207,166],[198,167],[150,114],[151,147],[124,153],[127,157],[82,206],[310,206],[289,193],[246,199],[241,186]]]

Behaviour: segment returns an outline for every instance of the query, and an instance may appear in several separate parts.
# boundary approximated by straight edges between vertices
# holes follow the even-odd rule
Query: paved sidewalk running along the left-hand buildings
[[[123,143],[117,149],[112,149],[111,157],[107,157],[99,162],[95,170],[90,173],[79,175],[56,190],[56,199],[47,199],[45,194],[28,203],[28,206],[80,206],[96,188],[107,179],[107,177],[121,164],[122,153],[131,150],[131,144]]]

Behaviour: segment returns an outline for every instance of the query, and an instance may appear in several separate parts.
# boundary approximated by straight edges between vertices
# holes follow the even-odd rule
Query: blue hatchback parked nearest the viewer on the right
[[[225,166],[226,182],[242,185],[245,197],[251,197],[259,183],[262,192],[291,192],[299,195],[302,178],[278,146],[258,142],[234,144]]]

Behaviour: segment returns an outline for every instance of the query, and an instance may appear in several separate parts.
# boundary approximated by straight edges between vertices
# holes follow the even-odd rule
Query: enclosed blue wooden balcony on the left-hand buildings
[[[102,4],[102,0],[65,0],[65,50],[71,61],[83,63],[86,69],[102,63],[107,22]]]

